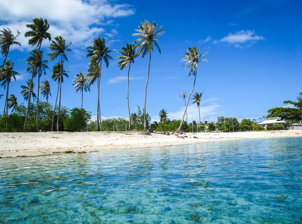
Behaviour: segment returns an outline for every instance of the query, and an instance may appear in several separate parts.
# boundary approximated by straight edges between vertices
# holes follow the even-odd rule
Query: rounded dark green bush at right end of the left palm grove
[[[90,119],[91,112],[83,108],[74,107],[70,110],[70,117],[64,120],[65,131],[80,132],[81,129],[87,127]]]

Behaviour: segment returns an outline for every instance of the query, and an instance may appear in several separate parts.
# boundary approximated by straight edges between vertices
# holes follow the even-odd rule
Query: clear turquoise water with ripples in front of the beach
[[[302,223],[302,139],[0,160],[1,223]]]

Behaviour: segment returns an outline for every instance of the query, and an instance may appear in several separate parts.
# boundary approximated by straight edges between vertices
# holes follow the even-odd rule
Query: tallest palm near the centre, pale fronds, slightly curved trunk
[[[157,23],[153,22],[153,24],[150,24],[149,21],[145,20],[145,22],[140,22],[141,25],[138,26],[138,29],[135,31],[138,33],[132,34],[132,36],[138,37],[134,41],[134,43],[137,43],[138,52],[137,55],[141,54],[141,57],[143,58],[145,55],[149,53],[149,65],[148,65],[148,75],[146,80],[146,87],[145,87],[145,97],[144,97],[144,106],[143,106],[143,134],[148,135],[149,132],[147,131],[147,125],[146,125],[146,100],[147,100],[147,86],[148,86],[148,80],[149,80],[149,74],[150,74],[150,62],[151,62],[151,53],[153,51],[153,46],[155,46],[158,51],[161,54],[161,48],[158,44],[157,36],[162,36],[165,32],[162,32],[163,27],[161,26],[158,30],[157,29]]]

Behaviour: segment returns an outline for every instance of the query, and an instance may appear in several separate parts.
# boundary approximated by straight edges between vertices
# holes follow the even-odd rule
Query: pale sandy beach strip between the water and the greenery
[[[103,149],[127,149],[152,146],[168,146],[190,143],[215,142],[251,138],[302,137],[302,130],[198,133],[175,135],[139,135],[137,132],[48,132],[48,133],[0,133],[0,158],[38,156],[53,153],[87,153]],[[184,136],[182,135],[182,136]],[[193,138],[193,137],[197,138]]]

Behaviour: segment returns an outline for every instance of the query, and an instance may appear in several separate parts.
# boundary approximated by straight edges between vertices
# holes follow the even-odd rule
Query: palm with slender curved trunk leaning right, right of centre
[[[194,47],[189,47],[188,48],[188,52],[185,53],[183,59],[181,60],[181,61],[186,62],[183,66],[185,66],[185,65],[187,66],[186,69],[189,71],[189,76],[191,76],[191,75],[194,76],[194,83],[193,83],[193,88],[191,90],[190,96],[188,98],[188,102],[187,102],[187,105],[186,105],[185,113],[184,113],[183,118],[181,120],[181,123],[180,123],[180,125],[179,125],[179,127],[178,127],[178,129],[176,131],[178,133],[181,132],[181,127],[182,127],[182,124],[183,124],[183,121],[184,121],[184,118],[185,118],[185,114],[187,112],[189,101],[190,101],[191,95],[192,95],[192,93],[194,91],[195,82],[196,82],[196,76],[197,76],[197,64],[200,61],[207,62],[207,59],[202,58],[202,56],[206,55],[207,52],[203,52],[202,54],[199,54],[198,52],[199,52],[199,48],[196,48],[195,46]]]

